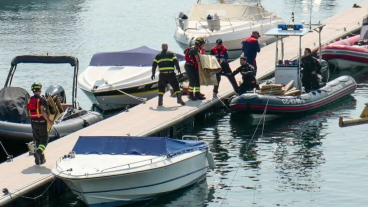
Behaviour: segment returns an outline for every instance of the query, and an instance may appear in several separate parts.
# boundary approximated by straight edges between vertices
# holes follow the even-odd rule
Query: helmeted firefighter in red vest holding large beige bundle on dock
[[[201,64],[198,54],[202,53],[203,45],[205,41],[203,38],[196,38],[194,46],[187,48],[184,51],[185,54],[185,72],[187,73],[189,80],[189,99],[190,100],[204,100],[206,97],[201,94],[201,86],[199,84],[199,71],[198,64]],[[194,94],[193,94],[194,93]]]

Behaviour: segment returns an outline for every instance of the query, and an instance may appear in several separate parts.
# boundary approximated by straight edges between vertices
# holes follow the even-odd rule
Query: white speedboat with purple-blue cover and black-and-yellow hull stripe
[[[138,105],[158,95],[158,69],[154,80],[151,75],[152,62],[159,52],[142,46],[120,52],[96,53],[87,69],[79,75],[78,87],[103,111]],[[183,76],[177,74],[179,82],[187,79],[183,55],[176,54],[183,73]]]

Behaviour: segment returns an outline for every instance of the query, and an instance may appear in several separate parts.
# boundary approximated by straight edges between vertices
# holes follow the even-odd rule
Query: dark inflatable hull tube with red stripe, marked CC
[[[313,90],[301,95],[267,95],[258,93],[246,93],[233,97],[229,102],[229,108],[233,111],[244,111],[250,114],[286,115],[291,113],[306,112],[321,108],[329,103],[352,94],[357,88],[357,83],[350,76],[341,76],[329,81],[318,90]]]

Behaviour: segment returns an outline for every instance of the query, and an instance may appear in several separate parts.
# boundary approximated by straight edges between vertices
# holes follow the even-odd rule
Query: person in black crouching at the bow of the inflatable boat
[[[257,84],[257,81],[255,79],[254,67],[251,66],[251,64],[247,63],[247,57],[240,57],[240,66],[236,70],[234,70],[231,75],[235,76],[238,73],[241,73],[243,79],[243,83],[241,83],[238,88],[234,88],[235,92],[238,95],[243,94],[247,91],[251,91],[253,90],[253,88],[259,90],[259,85]]]

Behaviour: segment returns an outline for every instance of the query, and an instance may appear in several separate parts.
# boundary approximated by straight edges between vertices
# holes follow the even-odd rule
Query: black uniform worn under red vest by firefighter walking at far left
[[[40,95],[33,95],[31,98],[39,98],[40,99],[40,105],[43,106],[44,109],[46,109],[46,99],[43,96]],[[29,111],[31,113],[32,111]],[[41,114],[41,109],[39,109],[39,114]],[[31,127],[32,127],[32,133],[33,133],[33,141],[36,144],[37,151],[34,155],[35,157],[35,163],[43,164],[46,162],[44,151],[47,147],[47,142],[49,141],[49,133],[47,132],[47,122],[45,118],[43,117],[37,117],[32,118],[31,117]],[[39,156],[39,157],[38,157]]]

